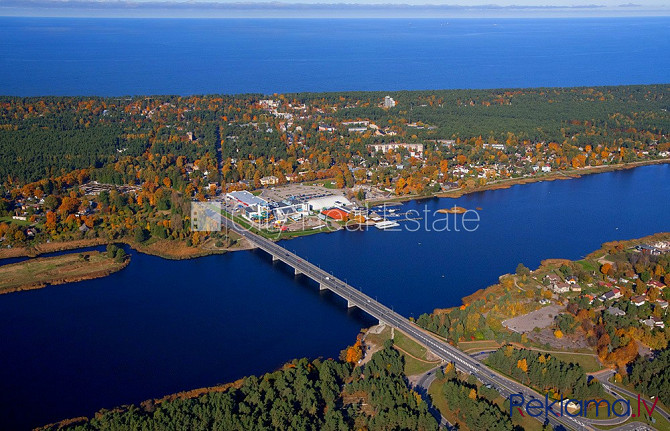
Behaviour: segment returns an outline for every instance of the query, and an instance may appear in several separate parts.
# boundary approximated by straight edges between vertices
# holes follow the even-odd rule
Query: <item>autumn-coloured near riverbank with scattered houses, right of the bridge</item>
[[[620,366],[617,354],[609,352],[622,346],[602,350],[597,342],[610,341],[598,341],[601,333],[594,328],[611,315],[626,315],[630,321],[622,331],[636,343],[635,353],[667,346],[667,244],[670,233],[660,232],[603,243],[579,260],[544,259],[532,271],[519,264],[516,273],[463,297],[463,305],[435,309],[417,323],[461,348],[471,342],[516,342],[525,348],[597,354],[603,364]],[[472,316],[486,320],[475,325]],[[647,321],[650,316],[658,320]],[[454,329],[461,324],[463,329]]]

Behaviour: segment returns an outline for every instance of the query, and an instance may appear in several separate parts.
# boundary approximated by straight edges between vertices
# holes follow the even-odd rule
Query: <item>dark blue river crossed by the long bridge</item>
[[[426,210],[417,231],[401,222],[397,232],[342,230],[283,245],[416,317],[459,305],[519,262],[535,268],[670,231],[669,196],[670,165],[646,166],[412,201],[394,209]],[[444,225],[434,211],[453,205],[481,208],[476,230],[453,215],[449,231],[435,230]],[[1,428],[225,383],[296,357],[336,357],[375,323],[263,252],[175,262],[128,251],[130,265],[109,277],[0,296]]]

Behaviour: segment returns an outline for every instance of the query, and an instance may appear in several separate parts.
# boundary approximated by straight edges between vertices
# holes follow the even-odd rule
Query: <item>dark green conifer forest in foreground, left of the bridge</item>
[[[363,367],[294,360],[223,392],[102,410],[45,430],[437,430],[427,404],[409,389],[403,358],[386,343]]]

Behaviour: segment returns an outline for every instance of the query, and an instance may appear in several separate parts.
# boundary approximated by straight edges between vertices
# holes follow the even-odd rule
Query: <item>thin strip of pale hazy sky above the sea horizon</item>
[[[670,16],[670,0],[0,0],[0,16],[157,18]]]

